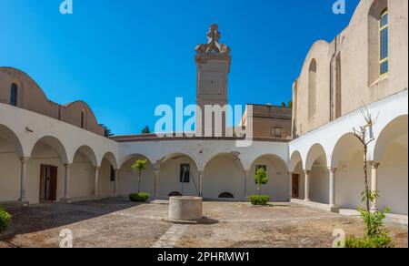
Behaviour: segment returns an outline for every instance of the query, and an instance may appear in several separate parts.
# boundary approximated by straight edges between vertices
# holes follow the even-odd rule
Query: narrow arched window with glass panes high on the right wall
[[[388,10],[385,9],[384,12],[379,17],[379,52],[380,52],[379,69],[381,77],[387,75],[389,72],[388,25],[389,25]]]

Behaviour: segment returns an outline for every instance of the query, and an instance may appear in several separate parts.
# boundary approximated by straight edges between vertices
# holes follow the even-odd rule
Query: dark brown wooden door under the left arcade
[[[51,165],[41,165],[40,173],[40,202],[54,202],[56,200],[58,168]]]

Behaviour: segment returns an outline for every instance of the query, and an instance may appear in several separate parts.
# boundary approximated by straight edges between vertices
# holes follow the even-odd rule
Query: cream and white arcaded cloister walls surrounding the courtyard
[[[142,190],[155,199],[183,192],[245,200],[256,193],[255,169],[264,167],[270,182],[263,190],[274,201],[354,210],[364,189],[364,155],[352,129],[365,125],[365,107],[376,118],[368,158],[381,198],[373,208],[388,206],[407,222],[407,5],[361,1],[332,43],[318,41],[308,53],[294,82],[292,122],[288,109],[254,105],[256,137],[248,148],[237,147],[234,137],[105,138],[85,103],[59,106],[21,71],[0,68],[0,202],[125,196],[138,189],[132,163],[146,159]],[[218,37],[196,48],[199,105],[212,92],[206,103],[227,102],[219,89],[226,95],[230,50]],[[207,73],[209,65],[201,64],[208,62],[220,71]]]

